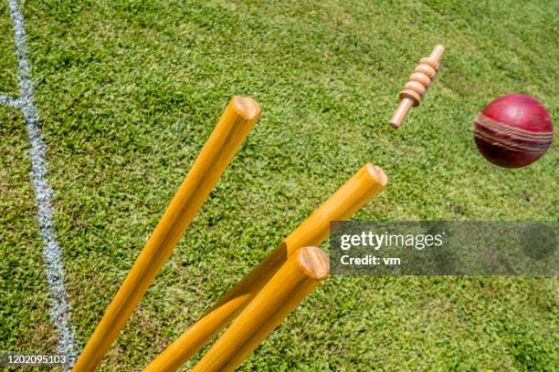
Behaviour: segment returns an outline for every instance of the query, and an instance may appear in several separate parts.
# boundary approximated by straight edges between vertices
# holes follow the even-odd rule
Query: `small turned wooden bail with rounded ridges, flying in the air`
[[[409,81],[404,86],[404,90],[400,92],[402,100],[396,109],[396,112],[390,119],[390,125],[394,128],[400,127],[407,112],[412,107],[418,106],[421,99],[427,93],[427,88],[431,86],[433,79],[438,73],[438,60],[445,52],[445,47],[438,45],[433,49],[429,57],[421,58],[414,73],[409,77]]]

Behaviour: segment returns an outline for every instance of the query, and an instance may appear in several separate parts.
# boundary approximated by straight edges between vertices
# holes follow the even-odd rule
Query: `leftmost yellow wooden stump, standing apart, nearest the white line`
[[[90,337],[72,371],[93,371],[119,335],[237,149],[256,123],[260,109],[252,98],[232,98],[185,181],[163,213],[142,253]]]

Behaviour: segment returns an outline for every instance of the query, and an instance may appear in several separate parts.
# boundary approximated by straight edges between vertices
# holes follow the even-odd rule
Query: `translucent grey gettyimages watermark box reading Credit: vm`
[[[555,275],[559,222],[332,222],[338,275]]]

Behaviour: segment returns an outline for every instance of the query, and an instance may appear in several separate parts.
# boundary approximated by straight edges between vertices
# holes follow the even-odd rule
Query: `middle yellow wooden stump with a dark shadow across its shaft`
[[[301,247],[320,245],[328,238],[330,222],[349,219],[385,188],[388,177],[373,164],[365,164],[334,192],[330,199],[301,223],[280,245],[225,294],[202,318],[179,336],[144,372],[169,372],[205,346],[239,315],[281,265]]]

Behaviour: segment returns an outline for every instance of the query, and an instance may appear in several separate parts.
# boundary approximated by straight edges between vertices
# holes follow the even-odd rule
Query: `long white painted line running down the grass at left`
[[[76,349],[76,337],[70,327],[72,308],[69,305],[66,292],[62,251],[58,245],[53,226],[53,191],[47,181],[47,161],[45,160],[47,145],[39,128],[39,116],[33,100],[33,82],[31,80],[31,66],[27,59],[24,18],[17,5],[17,0],[8,0],[8,6],[16,35],[17,80],[20,90],[20,98],[17,99],[17,102],[26,120],[30,145],[31,181],[37,197],[39,233],[43,243],[45,243],[43,256],[47,282],[50,287],[48,294],[52,306],[50,318],[58,330],[58,353],[73,356]]]

